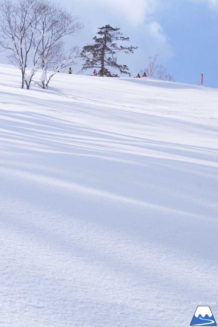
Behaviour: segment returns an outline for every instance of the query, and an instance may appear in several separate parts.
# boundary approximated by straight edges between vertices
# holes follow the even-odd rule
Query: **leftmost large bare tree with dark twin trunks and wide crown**
[[[76,36],[83,28],[76,16],[48,0],[18,0],[16,4],[4,0],[0,14],[0,45],[12,50],[9,60],[21,69],[21,87],[25,82],[27,89],[39,67],[46,74],[63,60],[63,38]],[[32,62],[28,74],[27,60]]]

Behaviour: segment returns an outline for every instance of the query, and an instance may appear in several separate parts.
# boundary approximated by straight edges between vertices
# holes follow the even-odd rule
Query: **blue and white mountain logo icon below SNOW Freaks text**
[[[216,326],[216,321],[209,306],[199,305],[190,326]]]

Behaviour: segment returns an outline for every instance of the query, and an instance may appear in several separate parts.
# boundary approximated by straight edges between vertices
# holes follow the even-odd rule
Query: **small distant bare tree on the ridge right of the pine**
[[[148,57],[148,66],[144,69],[140,69],[140,74],[146,73],[147,76],[155,77],[161,80],[174,81],[171,74],[167,74],[167,68],[163,64],[158,62],[159,53],[156,53],[154,57]]]

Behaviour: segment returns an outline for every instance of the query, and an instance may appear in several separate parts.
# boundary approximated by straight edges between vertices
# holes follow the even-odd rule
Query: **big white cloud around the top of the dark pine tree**
[[[124,37],[129,37],[129,44],[139,47],[134,56],[126,57],[128,61],[133,60],[133,57],[137,57],[135,60],[138,61],[140,58],[152,56],[156,52],[162,53],[164,59],[167,59],[172,57],[169,41],[155,17],[161,1],[92,0],[90,2],[90,0],[81,0],[76,7],[80,7],[81,13],[84,10],[86,13],[89,12],[89,15],[85,16],[87,21],[84,21],[84,15],[79,14],[85,26],[89,26],[89,29],[85,28],[84,34],[92,33],[93,37],[98,31],[98,27],[109,24],[119,27]],[[91,40],[90,36],[87,42],[91,42]]]

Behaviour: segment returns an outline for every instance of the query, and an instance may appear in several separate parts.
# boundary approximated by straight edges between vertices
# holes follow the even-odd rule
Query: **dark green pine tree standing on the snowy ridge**
[[[105,66],[115,68],[120,71],[122,74],[128,74],[128,67],[126,65],[119,65],[117,63],[117,58],[114,55],[117,52],[124,52],[124,53],[133,53],[135,49],[138,47],[133,46],[122,46],[117,45],[116,41],[129,41],[129,38],[123,37],[123,33],[120,33],[120,28],[113,28],[110,25],[106,25],[103,27],[98,28],[99,32],[96,34],[100,35],[101,37],[95,36],[93,40],[95,41],[94,44],[85,45],[81,52],[81,57],[85,57],[86,52],[92,52],[92,59],[87,58],[82,66],[80,72],[88,69],[88,68],[100,68],[98,72],[99,76],[103,76],[103,72],[105,76],[111,77],[111,73]]]

